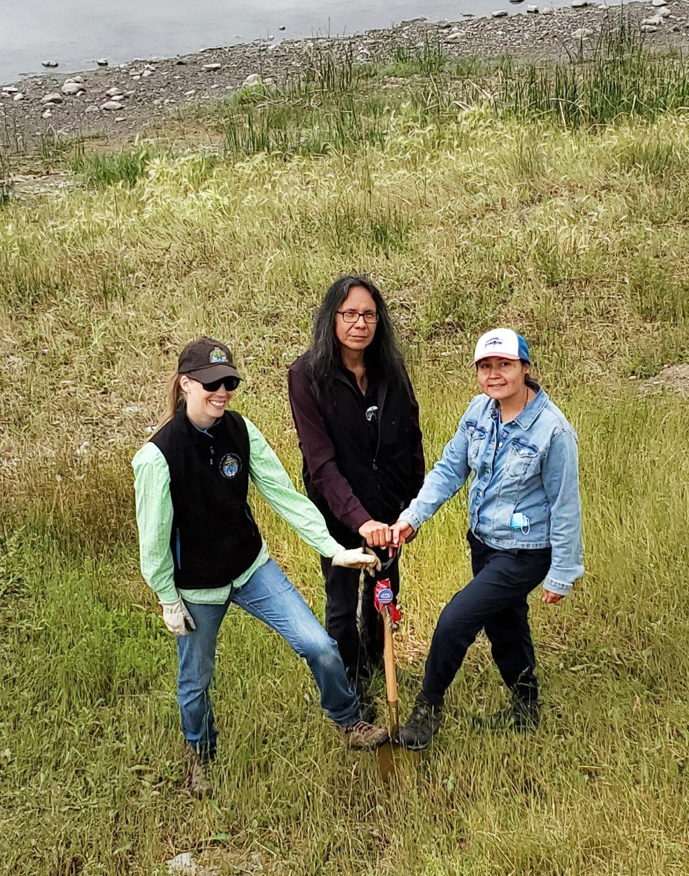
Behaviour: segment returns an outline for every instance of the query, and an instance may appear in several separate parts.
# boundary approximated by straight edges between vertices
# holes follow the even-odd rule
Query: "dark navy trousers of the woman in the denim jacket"
[[[526,597],[550,569],[550,548],[496,550],[467,534],[473,578],[445,605],[437,620],[423,678],[423,695],[442,706],[445,691],[481,629],[508,688],[536,702],[536,656]]]

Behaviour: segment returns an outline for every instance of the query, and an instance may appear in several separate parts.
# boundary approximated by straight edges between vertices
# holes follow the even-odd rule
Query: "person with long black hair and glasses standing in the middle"
[[[353,548],[385,548],[390,524],[423,484],[419,409],[379,289],[366,277],[337,279],[314,321],[309,350],[289,369],[289,401],[309,498],[330,534]],[[321,559],[325,628],[337,641],[359,697],[383,650],[373,577]],[[387,570],[400,589],[395,560]],[[370,714],[370,713],[369,713]]]

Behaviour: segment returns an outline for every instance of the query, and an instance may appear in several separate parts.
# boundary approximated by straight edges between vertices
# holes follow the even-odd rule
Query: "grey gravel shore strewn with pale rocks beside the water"
[[[649,46],[686,50],[689,0],[652,3],[629,4],[624,15],[643,32]],[[176,58],[134,60],[78,75],[50,71],[3,87],[0,142],[30,144],[46,132],[104,138],[144,132],[152,124],[162,123],[171,111],[219,99],[241,87],[246,77],[260,75],[281,81],[294,75],[313,62],[314,53],[329,45],[335,51],[351,46],[353,58],[362,62],[389,56],[397,46],[413,50],[427,42],[441,44],[450,57],[511,54],[563,59],[594,46],[601,28],[614,26],[621,14],[619,7],[599,5],[558,10],[529,6],[529,11],[458,22],[416,18],[394,28],[346,38],[259,40]],[[47,100],[49,95],[53,100]]]

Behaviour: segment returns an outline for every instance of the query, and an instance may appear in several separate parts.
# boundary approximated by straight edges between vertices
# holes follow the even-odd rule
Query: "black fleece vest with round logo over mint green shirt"
[[[174,584],[185,590],[225,587],[259,555],[259,527],[246,501],[249,434],[238,413],[225,411],[205,431],[183,410],[151,442],[170,471]]]

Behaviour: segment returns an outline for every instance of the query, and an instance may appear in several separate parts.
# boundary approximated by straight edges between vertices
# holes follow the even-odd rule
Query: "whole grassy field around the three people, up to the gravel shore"
[[[289,88],[179,120],[174,143],[46,143],[41,160],[77,184],[28,201],[5,145],[0,872],[163,873],[181,851],[222,873],[687,872],[689,402],[639,390],[689,362],[689,117],[683,61],[633,42],[521,72],[433,46],[361,69],[321,57]],[[185,125],[219,148],[184,145]],[[298,480],[286,370],[352,270],[387,294],[429,463],[475,392],[476,337],[507,324],[529,338],[579,431],[586,578],[557,608],[533,603],[538,731],[472,730],[504,703],[479,641],[437,742],[387,788],[373,756],[340,747],[306,667],[232,611],[217,794],[195,801],[130,459],[177,351],[208,333],[235,351],[237,406]],[[316,555],[255,508],[322,617]],[[464,533],[460,496],[406,552],[404,713],[469,575]]]

